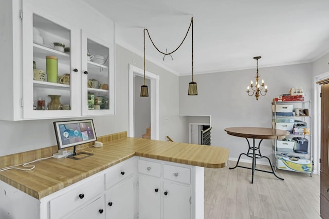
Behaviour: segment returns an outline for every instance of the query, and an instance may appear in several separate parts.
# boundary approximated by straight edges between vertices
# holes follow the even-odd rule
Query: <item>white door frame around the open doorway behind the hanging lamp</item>
[[[129,69],[129,137],[134,137],[134,76],[144,77],[144,70],[133,65],[128,65]],[[160,76],[145,71],[145,78],[150,79],[151,98],[151,139],[159,140],[159,80]]]

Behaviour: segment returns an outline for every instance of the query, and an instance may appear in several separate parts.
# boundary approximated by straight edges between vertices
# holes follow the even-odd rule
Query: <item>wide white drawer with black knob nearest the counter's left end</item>
[[[60,218],[86,204],[104,190],[104,176],[98,176],[49,201],[50,219]]]

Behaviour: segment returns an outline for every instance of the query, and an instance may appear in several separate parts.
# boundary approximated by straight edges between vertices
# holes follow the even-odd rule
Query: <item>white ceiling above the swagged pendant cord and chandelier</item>
[[[163,52],[184,38],[193,15],[194,73],[314,61],[329,52],[328,0],[84,0],[116,25],[117,43],[143,55],[143,28]],[[146,35],[147,36],[147,35]],[[189,32],[172,54],[145,38],[145,56],[177,75],[191,74]],[[146,67],[147,68],[147,67]]]

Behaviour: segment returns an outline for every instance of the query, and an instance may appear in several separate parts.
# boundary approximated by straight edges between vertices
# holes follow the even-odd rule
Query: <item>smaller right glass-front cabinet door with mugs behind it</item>
[[[81,31],[82,115],[114,114],[113,44]]]

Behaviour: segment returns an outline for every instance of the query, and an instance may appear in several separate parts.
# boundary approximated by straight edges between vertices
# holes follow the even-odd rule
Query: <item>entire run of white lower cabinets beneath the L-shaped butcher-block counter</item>
[[[1,219],[204,218],[204,168],[138,156],[40,200],[0,188]]]

